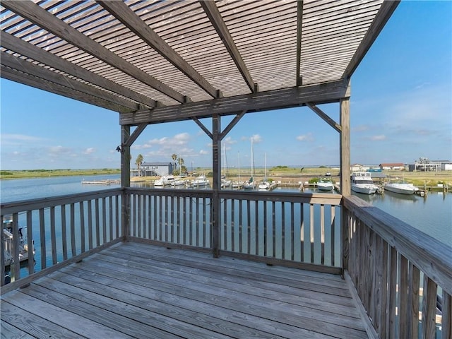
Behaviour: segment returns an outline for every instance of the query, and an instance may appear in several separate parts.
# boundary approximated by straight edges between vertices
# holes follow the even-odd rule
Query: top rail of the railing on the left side
[[[0,203],[1,214],[11,214],[22,212],[23,210],[37,210],[39,208],[47,208],[52,206],[60,206],[67,203],[77,203],[79,201],[87,201],[107,196],[114,196],[122,193],[121,188],[103,189],[100,191],[91,191],[78,194],[69,194],[65,196],[50,196],[44,198],[35,198],[23,201],[13,201],[10,203]]]

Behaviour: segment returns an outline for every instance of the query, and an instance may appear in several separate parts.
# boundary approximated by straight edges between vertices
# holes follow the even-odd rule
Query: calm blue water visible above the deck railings
[[[87,191],[109,189],[118,185],[90,185],[81,184],[82,180],[119,179],[118,174],[105,176],[77,176],[77,177],[49,177],[39,179],[13,179],[0,182],[0,201],[28,200],[48,196],[61,196]],[[138,186],[139,184],[136,184]],[[277,189],[278,191],[278,189]],[[280,191],[297,191],[280,189]],[[452,193],[429,193],[427,197],[403,196],[385,192],[383,195],[356,194],[373,206],[394,215],[439,239],[439,241],[452,246]]]

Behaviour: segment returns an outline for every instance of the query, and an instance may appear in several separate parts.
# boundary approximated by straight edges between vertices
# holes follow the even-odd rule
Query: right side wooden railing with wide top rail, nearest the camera
[[[451,246],[343,198],[344,266],[380,338],[452,338]]]

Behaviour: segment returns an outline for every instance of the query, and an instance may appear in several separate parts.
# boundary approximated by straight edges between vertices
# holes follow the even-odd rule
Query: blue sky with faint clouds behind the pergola
[[[452,161],[452,1],[402,1],[352,77],[351,162]],[[1,79],[1,169],[119,168],[119,116]],[[319,106],[338,121],[339,105]],[[222,128],[232,117],[222,119]],[[203,121],[210,126],[209,120]],[[307,107],[246,114],[225,138],[227,165],[337,165],[339,136]],[[148,126],[147,162],[210,166],[193,121]],[[223,148],[223,149],[224,149]]]

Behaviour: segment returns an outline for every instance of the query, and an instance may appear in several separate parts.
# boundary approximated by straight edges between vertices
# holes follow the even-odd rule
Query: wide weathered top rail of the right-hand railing
[[[343,206],[452,295],[451,246],[371,206],[357,196],[344,196]]]

